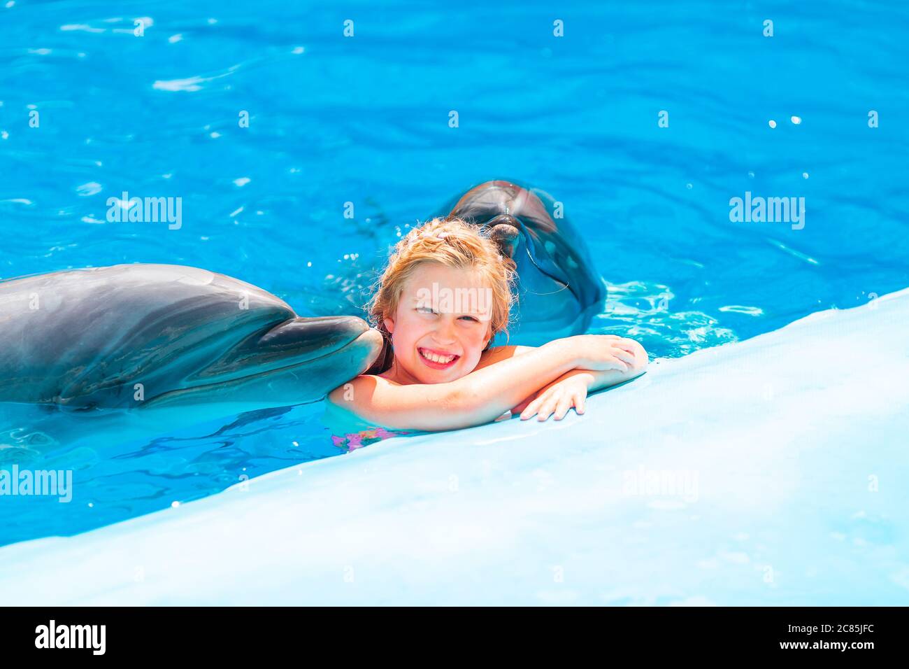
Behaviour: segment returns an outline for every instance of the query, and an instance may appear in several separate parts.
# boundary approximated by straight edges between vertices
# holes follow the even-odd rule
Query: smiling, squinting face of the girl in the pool
[[[492,338],[492,289],[470,269],[423,262],[385,319],[402,383],[445,383],[476,368]]]

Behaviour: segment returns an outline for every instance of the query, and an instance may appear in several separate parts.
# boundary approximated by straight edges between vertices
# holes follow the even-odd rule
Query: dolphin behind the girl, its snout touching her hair
[[[510,342],[539,346],[579,334],[603,309],[605,284],[583,238],[545,191],[486,181],[454,198],[438,215],[487,230],[517,265],[518,319]]]

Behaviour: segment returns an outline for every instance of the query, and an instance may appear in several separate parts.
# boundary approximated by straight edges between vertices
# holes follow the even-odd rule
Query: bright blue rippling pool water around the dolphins
[[[508,177],[585,233],[590,331],[652,358],[745,340],[909,286],[907,28],[895,3],[0,2],[0,278],[175,263],[358,313],[407,225]],[[106,222],[124,191],[183,198],[182,227]],[[745,191],[804,197],[804,228],[732,222]],[[75,476],[69,504],[4,499],[0,544],[336,455],[322,411],[125,439],[0,407],[0,465]]]

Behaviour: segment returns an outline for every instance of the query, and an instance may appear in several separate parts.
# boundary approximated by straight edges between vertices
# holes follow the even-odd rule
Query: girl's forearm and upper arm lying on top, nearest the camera
[[[627,370],[631,364],[634,356],[603,336],[578,335],[550,341],[448,383],[402,386],[379,376],[358,376],[330,392],[328,400],[387,428],[456,430],[494,421],[575,367]]]

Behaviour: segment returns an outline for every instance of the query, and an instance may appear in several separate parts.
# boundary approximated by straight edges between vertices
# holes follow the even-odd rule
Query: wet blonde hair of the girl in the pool
[[[466,223],[461,218],[433,218],[412,228],[395,244],[388,265],[373,286],[373,297],[366,305],[367,318],[385,339],[385,349],[379,354],[367,374],[387,370],[394,360],[391,334],[385,319],[394,318],[407,279],[426,262],[436,262],[454,269],[472,269],[492,290],[490,325],[492,336],[488,350],[499,332],[508,337],[508,324],[514,306],[514,281],[517,266],[512,258],[503,256],[488,231]]]

